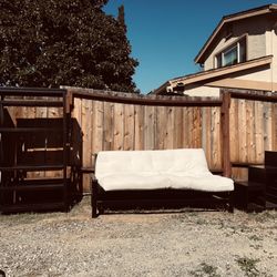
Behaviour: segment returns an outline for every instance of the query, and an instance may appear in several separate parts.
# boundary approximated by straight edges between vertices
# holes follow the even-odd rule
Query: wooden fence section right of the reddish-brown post
[[[263,164],[265,151],[277,151],[277,95],[232,91],[230,96],[233,176],[247,179],[249,164]]]

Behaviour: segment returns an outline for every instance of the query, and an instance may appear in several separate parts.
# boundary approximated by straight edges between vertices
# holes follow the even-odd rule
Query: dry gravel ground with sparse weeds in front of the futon
[[[277,276],[277,212],[0,215],[7,276]]]

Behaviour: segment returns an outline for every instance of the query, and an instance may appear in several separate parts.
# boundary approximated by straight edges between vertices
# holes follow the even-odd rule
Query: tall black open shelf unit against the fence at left
[[[66,90],[0,89],[0,212],[68,212],[75,201]],[[58,117],[11,116],[10,107],[59,107]],[[62,112],[61,112],[62,110]]]

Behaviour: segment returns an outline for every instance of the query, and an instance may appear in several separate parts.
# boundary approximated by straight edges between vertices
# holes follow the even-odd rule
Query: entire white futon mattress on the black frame
[[[103,151],[98,155],[95,176],[105,191],[234,191],[233,179],[209,172],[202,148]]]

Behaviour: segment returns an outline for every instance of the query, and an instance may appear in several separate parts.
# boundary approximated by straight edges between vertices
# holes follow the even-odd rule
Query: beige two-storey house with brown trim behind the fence
[[[223,17],[195,58],[203,71],[154,94],[217,96],[220,88],[277,91],[277,4]]]

